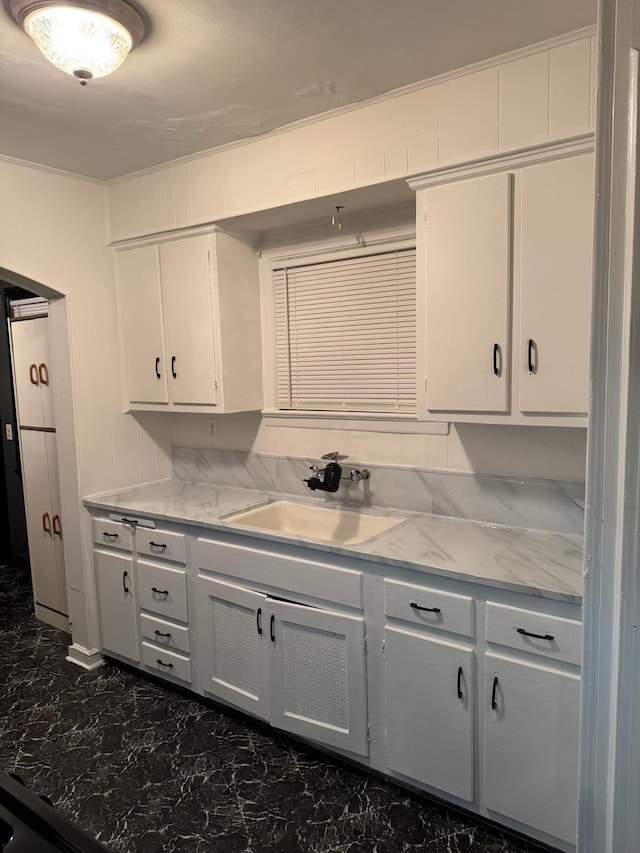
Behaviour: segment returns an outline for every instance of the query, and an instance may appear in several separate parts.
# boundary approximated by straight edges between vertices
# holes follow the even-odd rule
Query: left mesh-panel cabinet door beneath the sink
[[[207,693],[268,719],[266,595],[198,577],[198,666]]]

